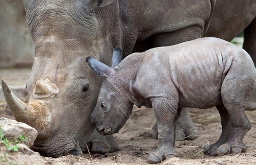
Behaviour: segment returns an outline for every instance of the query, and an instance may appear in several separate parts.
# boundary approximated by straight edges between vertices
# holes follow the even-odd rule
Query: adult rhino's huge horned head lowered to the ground
[[[87,150],[94,129],[91,113],[102,78],[87,65],[93,56],[111,63],[121,45],[115,0],[24,0],[35,57],[27,82],[29,102],[20,101],[3,81],[17,121],[38,131],[32,149],[58,157]]]

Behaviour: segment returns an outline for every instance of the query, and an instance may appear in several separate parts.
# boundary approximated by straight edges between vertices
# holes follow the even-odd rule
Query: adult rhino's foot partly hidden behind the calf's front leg
[[[175,133],[175,139],[182,140],[182,139],[188,139],[188,140],[194,140],[197,138],[198,135],[198,128],[195,126],[193,121],[191,120],[187,108],[182,108],[181,114],[179,119],[177,120],[176,124],[176,133]],[[158,138],[157,133],[157,124],[154,125],[152,128],[152,135],[154,138]]]

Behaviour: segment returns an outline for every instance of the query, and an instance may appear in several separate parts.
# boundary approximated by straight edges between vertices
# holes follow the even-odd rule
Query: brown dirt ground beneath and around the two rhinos
[[[160,164],[256,164],[256,110],[246,111],[252,129],[244,142],[248,150],[243,154],[226,156],[204,156],[203,147],[216,142],[221,133],[220,116],[217,109],[190,109],[190,116],[200,130],[196,140],[176,142],[179,158],[172,158]],[[13,119],[4,101],[0,102],[0,117]],[[59,158],[42,157],[31,152],[7,152],[0,148],[0,164],[147,164],[147,156],[157,147],[158,140],[152,137],[155,123],[152,109],[134,108],[130,119],[115,138],[120,150],[105,155],[84,153]]]

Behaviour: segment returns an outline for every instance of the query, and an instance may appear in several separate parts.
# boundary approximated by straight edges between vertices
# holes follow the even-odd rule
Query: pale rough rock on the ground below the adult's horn
[[[2,131],[4,131],[5,137],[12,142],[22,135],[25,136],[28,140],[22,143],[28,147],[33,145],[37,136],[37,131],[33,127],[5,117],[0,118],[0,127],[2,128]]]

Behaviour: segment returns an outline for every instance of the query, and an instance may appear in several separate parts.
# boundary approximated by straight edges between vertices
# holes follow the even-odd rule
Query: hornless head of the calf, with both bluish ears
[[[120,54],[113,54],[112,67],[109,67],[91,57],[87,58],[94,72],[105,77],[97,104],[91,114],[92,123],[102,135],[118,133],[133,109],[133,103],[129,99],[130,85],[124,83],[125,75],[122,75],[121,69],[116,67],[120,59]],[[124,79],[121,80],[120,77]]]

